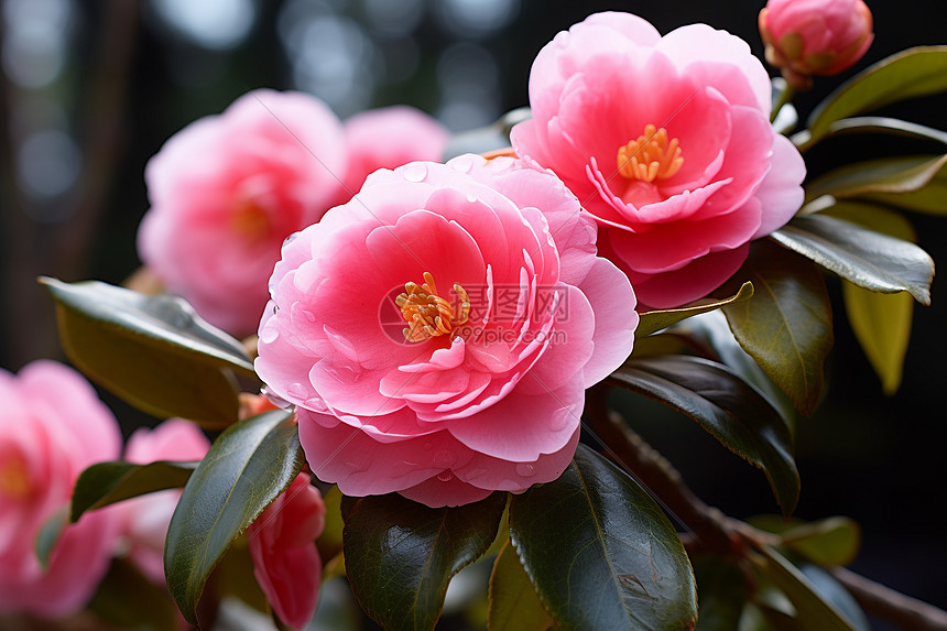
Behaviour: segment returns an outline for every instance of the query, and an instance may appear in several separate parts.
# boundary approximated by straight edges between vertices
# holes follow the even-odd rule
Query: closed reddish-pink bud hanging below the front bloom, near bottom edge
[[[253,575],[276,616],[302,629],[316,612],[323,562],[315,541],[326,525],[323,497],[300,474],[247,529]]]

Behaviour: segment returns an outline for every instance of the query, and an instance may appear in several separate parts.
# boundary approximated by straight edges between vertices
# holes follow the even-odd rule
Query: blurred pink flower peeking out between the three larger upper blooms
[[[363,111],[345,122],[348,168],[346,187],[352,193],[379,168],[395,168],[416,160],[439,162],[450,134],[436,119],[409,106]]]

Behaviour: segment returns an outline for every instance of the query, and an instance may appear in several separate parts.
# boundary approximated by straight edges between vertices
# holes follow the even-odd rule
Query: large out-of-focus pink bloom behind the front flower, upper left
[[[148,163],[141,258],[205,319],[252,333],[280,244],[344,200],[345,167],[341,122],[326,105],[253,90],[187,126]]]

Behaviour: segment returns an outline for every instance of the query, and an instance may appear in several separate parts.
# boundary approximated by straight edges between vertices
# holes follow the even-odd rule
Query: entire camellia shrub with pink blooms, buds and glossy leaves
[[[0,373],[0,610],[106,616],[102,595],[134,592],[143,628],[210,628],[238,599],[302,629],[345,576],[382,628],[429,630],[478,564],[493,631],[864,631],[862,606],[947,628],[843,568],[853,522],[792,518],[826,275],[893,392],[934,278],[907,217],[947,206],[945,155],[807,177],[807,152],[943,145],[873,112],[947,90],[947,47],[862,69],[799,121],[795,91],[858,63],[871,13],[770,4],[791,83],[712,25],[594,14],[538,52],[529,110],[465,134],[483,153],[411,108],[342,123],[269,89],[172,137],[138,236],[160,290],[41,280],[76,368],[170,420],[120,457],[75,371]],[[705,504],[616,389],[760,469],[782,519]]]

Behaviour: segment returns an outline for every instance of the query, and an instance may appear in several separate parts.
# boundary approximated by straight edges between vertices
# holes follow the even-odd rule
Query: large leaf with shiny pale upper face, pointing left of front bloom
[[[41,279],[56,302],[66,355],[94,381],[159,417],[207,427],[237,420],[233,371],[253,376],[240,342],[184,301],[96,281]]]

